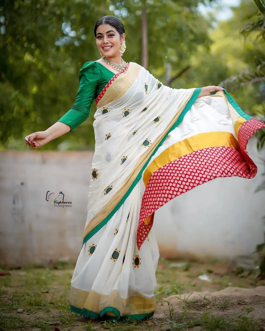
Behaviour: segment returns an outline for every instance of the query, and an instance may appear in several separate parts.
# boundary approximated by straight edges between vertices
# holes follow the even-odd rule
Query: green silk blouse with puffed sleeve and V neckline
[[[71,131],[89,116],[92,103],[115,75],[96,61],[86,62],[79,71],[79,88],[73,107],[57,122],[71,126]]]

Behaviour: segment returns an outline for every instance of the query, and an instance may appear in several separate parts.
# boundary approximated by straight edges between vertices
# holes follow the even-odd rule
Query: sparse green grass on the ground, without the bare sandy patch
[[[220,290],[227,286],[256,287],[260,285],[251,275],[245,278],[236,275],[215,276],[215,263],[189,262],[183,267],[171,267],[172,261],[160,259],[157,268],[156,298],[158,303],[167,305],[165,317],[150,321],[94,321],[80,316],[69,309],[69,293],[74,265],[55,263],[49,268],[37,265],[26,266],[20,270],[11,270],[11,275],[0,277],[0,331],[25,331],[38,328],[51,331],[54,328],[64,331],[82,330],[192,330],[200,327],[205,331],[256,331],[263,330],[257,321],[248,315],[251,307],[242,307],[242,314],[230,318],[224,316],[231,309],[227,299],[210,302],[206,296],[191,298],[181,296],[184,293]],[[1,269],[0,269],[1,270]],[[198,275],[211,270],[211,282],[198,280]],[[180,302],[178,309],[170,299],[174,295]],[[210,313],[210,308],[219,309],[221,315]],[[17,313],[23,308],[23,313]],[[159,309],[159,308],[158,308]],[[199,310],[199,312],[198,312]],[[223,315],[222,315],[222,312]],[[195,329],[194,329],[195,330]]]

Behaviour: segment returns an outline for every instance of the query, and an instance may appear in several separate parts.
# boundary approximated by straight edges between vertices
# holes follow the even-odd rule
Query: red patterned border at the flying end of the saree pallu
[[[249,138],[265,124],[255,118],[245,121],[238,131],[240,153],[227,146],[209,147],[184,155],[152,173],[141,203],[136,242],[140,249],[154,221],[155,211],[171,199],[218,177],[253,178],[257,166],[248,156]],[[147,224],[145,219],[151,215]]]

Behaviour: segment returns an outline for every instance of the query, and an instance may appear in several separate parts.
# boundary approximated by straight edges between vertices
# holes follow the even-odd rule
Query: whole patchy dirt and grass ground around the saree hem
[[[71,312],[71,265],[8,272],[0,276],[0,331],[265,330],[265,282],[233,274],[227,261],[161,258],[157,309],[147,321],[95,321]]]

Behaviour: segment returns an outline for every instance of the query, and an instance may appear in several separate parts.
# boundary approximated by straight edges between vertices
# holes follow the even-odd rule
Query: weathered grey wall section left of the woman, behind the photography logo
[[[92,157],[88,152],[0,152],[1,264],[77,259]],[[46,201],[47,191],[56,196],[62,191],[72,207],[54,207]]]

